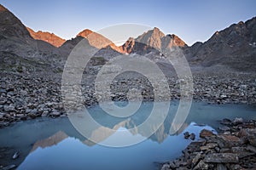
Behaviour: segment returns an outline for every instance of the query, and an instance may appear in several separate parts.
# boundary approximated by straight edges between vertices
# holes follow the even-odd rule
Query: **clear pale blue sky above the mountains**
[[[65,39],[89,28],[136,23],[174,33],[189,45],[205,42],[240,20],[256,16],[255,0],[0,0],[26,26]],[[143,32],[142,32],[143,33]],[[129,35],[127,35],[129,37]]]

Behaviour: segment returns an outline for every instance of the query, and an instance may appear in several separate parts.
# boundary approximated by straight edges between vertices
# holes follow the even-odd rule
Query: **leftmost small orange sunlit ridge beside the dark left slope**
[[[51,45],[55,47],[61,47],[61,45],[66,42],[65,39],[62,39],[61,37],[56,36],[54,33],[49,33],[45,31],[33,31],[31,28],[26,27],[27,31],[29,31],[31,37],[33,37],[36,40],[42,40],[44,42],[49,42]]]

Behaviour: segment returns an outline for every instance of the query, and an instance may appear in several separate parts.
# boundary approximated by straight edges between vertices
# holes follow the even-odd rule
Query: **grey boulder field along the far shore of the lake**
[[[61,79],[57,80],[59,81],[49,77],[25,77],[19,74],[2,73],[0,79],[0,127],[40,116],[66,116],[61,101]],[[255,80],[253,77],[242,75],[232,79],[195,76],[193,99],[210,104],[254,104],[256,103]],[[93,79],[82,85],[83,103],[86,106],[97,103],[94,95],[94,83],[91,82]],[[175,78],[169,78],[168,82],[172,91],[171,99],[179,99],[179,82]],[[119,78],[113,81],[112,99],[126,100],[127,91],[130,88],[141,89],[144,101],[154,100],[154,89],[150,83],[138,77]],[[163,96],[163,100],[165,97],[170,96]]]

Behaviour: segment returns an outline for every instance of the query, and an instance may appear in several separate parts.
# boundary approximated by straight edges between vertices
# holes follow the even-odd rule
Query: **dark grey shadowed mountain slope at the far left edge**
[[[55,65],[59,62],[57,56],[57,48],[48,42],[33,39],[26,26],[7,8],[0,5],[1,71],[28,74],[55,70]]]

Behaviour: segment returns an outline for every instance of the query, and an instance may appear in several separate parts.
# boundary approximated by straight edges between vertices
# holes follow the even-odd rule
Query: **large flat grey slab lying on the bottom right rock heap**
[[[207,163],[238,163],[239,158],[233,153],[212,153],[207,155],[204,161]]]

